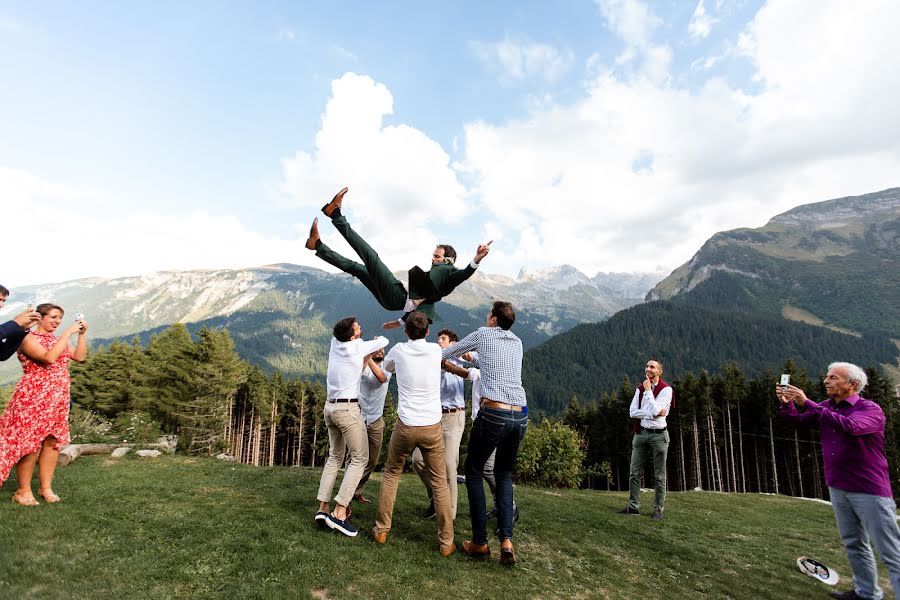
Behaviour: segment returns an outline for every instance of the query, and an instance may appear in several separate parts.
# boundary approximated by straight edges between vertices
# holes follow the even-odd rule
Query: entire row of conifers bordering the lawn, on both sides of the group
[[[863,396],[878,402],[887,416],[886,447],[896,485],[900,400],[876,369],[866,371],[869,385]],[[821,376],[811,379],[792,361],[781,372],[790,373],[791,382],[811,398],[825,397]],[[727,363],[718,373],[686,372],[670,381],[675,389],[675,408],[668,417],[670,489],[827,496],[818,432],[782,422],[773,392],[776,379],[771,371],[748,378],[737,364]],[[558,419],[535,411],[531,430],[537,435],[542,427],[541,440],[547,439],[543,450],[525,453],[529,462],[520,477],[543,481],[552,470],[551,484],[627,489],[628,407],[637,383],[626,376],[618,389],[590,401],[570,394]],[[158,430],[178,434],[179,448],[190,453],[226,452],[242,463],[268,466],[320,466],[327,457],[322,381],[265,373],[242,361],[225,329],[202,329],[192,337],[178,324],[145,345],[134,339],[99,347],[72,366],[72,399],[77,407],[132,427],[152,421]],[[384,418],[390,430],[396,420],[392,394]],[[572,447],[569,434],[548,429],[542,421],[557,421],[574,431],[580,451]],[[470,427],[467,419],[467,433]],[[553,464],[542,464],[551,460],[546,457],[554,449]]]

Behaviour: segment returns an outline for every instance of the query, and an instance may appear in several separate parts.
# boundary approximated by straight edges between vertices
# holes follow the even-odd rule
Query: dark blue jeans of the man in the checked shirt
[[[472,425],[466,456],[466,492],[472,519],[472,541],[487,543],[487,509],[484,500],[484,464],[497,450],[494,478],[497,482],[497,525],[500,539],[512,539],[512,474],[519,444],[528,428],[527,413],[482,408]]]

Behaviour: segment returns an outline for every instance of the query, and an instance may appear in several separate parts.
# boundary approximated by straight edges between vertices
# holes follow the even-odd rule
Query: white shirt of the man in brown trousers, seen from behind
[[[397,374],[397,417],[421,427],[441,421],[441,347],[424,339],[397,344],[384,357]]]

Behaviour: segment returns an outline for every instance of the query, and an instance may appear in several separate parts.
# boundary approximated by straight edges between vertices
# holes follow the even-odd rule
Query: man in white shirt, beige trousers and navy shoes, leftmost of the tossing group
[[[356,528],[350,524],[347,506],[353,499],[353,492],[365,471],[369,460],[366,426],[359,410],[359,378],[363,362],[368,354],[384,348],[388,340],[378,336],[374,340],[363,341],[362,328],[356,317],[346,317],[334,325],[334,337],[328,352],[328,375],[325,401],[325,425],[328,427],[328,460],[322,470],[319,482],[319,510],[316,522],[322,527],[340,531],[354,537]],[[334,512],[329,503],[338,469],[344,462],[344,454],[350,451],[350,464],[341,481],[341,488],[334,497]]]

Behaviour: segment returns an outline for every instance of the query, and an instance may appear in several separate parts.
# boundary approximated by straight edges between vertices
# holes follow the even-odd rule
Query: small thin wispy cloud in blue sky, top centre
[[[469,42],[469,47],[479,60],[513,80],[540,78],[552,82],[568,72],[574,63],[570,50],[525,39]]]

